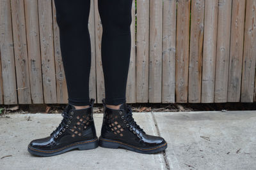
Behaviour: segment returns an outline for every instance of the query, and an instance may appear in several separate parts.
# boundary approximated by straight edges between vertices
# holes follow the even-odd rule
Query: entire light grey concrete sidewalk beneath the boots
[[[0,118],[0,169],[256,169],[256,111],[133,115],[145,132],[166,139],[166,152],[145,155],[98,147],[34,157],[28,143],[48,136],[61,115],[12,114]],[[100,136],[102,114],[94,119]]]

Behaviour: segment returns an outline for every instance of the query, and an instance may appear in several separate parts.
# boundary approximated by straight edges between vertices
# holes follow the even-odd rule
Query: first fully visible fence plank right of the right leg
[[[137,0],[136,102],[148,102],[149,1]]]

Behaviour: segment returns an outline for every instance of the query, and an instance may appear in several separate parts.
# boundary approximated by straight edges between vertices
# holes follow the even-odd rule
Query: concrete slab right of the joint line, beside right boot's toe
[[[256,169],[256,111],[153,113],[170,169]]]

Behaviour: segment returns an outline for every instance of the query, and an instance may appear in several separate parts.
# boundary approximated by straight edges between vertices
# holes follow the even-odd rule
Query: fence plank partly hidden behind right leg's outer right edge
[[[126,103],[136,103],[136,44],[135,44],[135,0],[132,1],[131,59],[126,85]]]

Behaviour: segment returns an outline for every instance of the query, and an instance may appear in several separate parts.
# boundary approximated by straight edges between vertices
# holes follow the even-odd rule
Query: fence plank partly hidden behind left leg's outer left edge
[[[52,22],[53,22],[53,40],[54,40],[54,59],[56,69],[56,92],[57,103],[68,103],[67,81],[61,57],[60,49],[60,30],[56,20],[56,8],[52,1]]]

